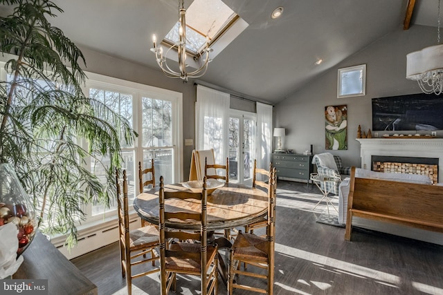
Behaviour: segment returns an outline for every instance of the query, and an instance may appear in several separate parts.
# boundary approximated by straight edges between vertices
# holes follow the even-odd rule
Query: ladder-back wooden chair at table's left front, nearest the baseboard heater
[[[129,229],[129,204],[127,200],[127,175],[123,170],[123,193],[120,190],[120,178],[116,171],[116,188],[118,204],[118,231],[120,233],[120,266],[123,278],[126,277],[127,293],[132,294],[132,279],[146,276],[154,272],[159,272],[160,268],[155,267],[155,261],[159,260],[155,247],[159,247],[159,231],[154,225]],[[150,254],[147,256],[147,254]],[[142,257],[143,256],[143,257]],[[132,267],[141,263],[152,263],[152,267],[143,272],[132,273]]]

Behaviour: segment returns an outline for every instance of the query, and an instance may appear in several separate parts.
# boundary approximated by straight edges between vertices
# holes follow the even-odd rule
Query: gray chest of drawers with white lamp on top
[[[273,153],[272,165],[277,170],[277,177],[306,180],[313,170],[312,155],[298,155],[291,153]]]

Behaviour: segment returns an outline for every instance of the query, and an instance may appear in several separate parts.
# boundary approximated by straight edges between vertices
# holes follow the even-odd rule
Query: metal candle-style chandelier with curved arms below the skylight
[[[171,78],[180,78],[184,82],[188,82],[188,78],[198,78],[203,76],[208,69],[209,53],[212,51],[209,48],[209,38],[206,37],[206,43],[202,50],[199,50],[199,53],[193,58],[197,63],[197,70],[193,70],[188,72],[188,64],[186,64],[186,9],[184,8],[184,0],[179,0],[179,41],[175,42],[165,53],[163,53],[163,47],[157,46],[156,44],[156,36],[152,36],[152,41],[154,43],[154,48],[151,48],[151,51],[155,53],[155,58],[157,64],[161,68],[163,74]],[[175,49],[178,53],[178,65],[175,65],[173,70],[170,65],[168,65],[166,61],[166,56],[169,56],[168,53],[170,50]]]

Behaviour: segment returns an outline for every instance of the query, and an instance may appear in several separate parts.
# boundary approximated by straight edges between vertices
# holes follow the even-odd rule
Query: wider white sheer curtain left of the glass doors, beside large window
[[[197,85],[195,149],[214,149],[215,162],[220,164],[228,157],[229,97]]]

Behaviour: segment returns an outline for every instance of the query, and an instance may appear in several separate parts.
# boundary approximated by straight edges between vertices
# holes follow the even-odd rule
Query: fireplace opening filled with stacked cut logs
[[[428,176],[434,184],[438,182],[438,158],[372,155],[371,162],[372,171],[420,174]]]

